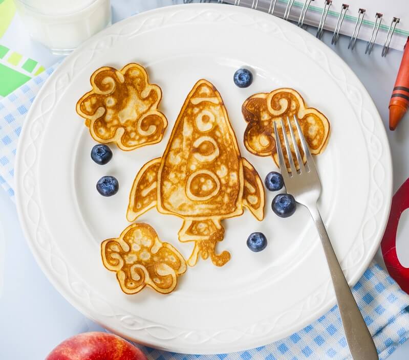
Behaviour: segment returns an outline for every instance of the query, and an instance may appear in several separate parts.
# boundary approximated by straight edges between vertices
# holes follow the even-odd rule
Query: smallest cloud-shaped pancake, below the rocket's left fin
[[[116,272],[125,294],[136,294],[146,285],[168,294],[186,272],[183,256],[143,222],[128,226],[117,239],[103,241],[101,254],[104,266]]]

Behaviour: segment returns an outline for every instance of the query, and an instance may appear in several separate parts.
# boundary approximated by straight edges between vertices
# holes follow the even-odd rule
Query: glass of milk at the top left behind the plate
[[[31,37],[66,55],[111,25],[110,0],[14,0]]]

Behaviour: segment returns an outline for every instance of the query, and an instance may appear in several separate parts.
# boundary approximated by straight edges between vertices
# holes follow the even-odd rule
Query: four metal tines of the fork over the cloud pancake
[[[307,160],[306,164],[308,165],[309,170],[311,170],[311,167],[315,167],[315,165],[314,165],[314,162],[312,161],[311,152],[310,152],[308,144],[307,144],[307,142],[306,142],[306,140],[304,138],[303,131],[301,131],[301,127],[299,126],[298,119],[297,119],[297,117],[295,115],[294,115],[294,123],[295,123],[295,126],[297,128],[298,137],[299,137],[301,146],[302,146],[304,154],[306,156],[306,160]],[[303,172],[306,171],[306,168],[304,166],[303,157],[301,156],[301,153],[300,153],[300,151],[298,149],[297,141],[296,141],[295,134],[294,134],[293,128],[291,126],[291,122],[290,122],[289,117],[287,117],[287,124],[288,124],[288,128],[290,130],[291,141],[292,141],[292,145],[293,145],[293,148],[294,148],[295,156],[297,158],[299,173],[303,173]],[[291,174],[296,174],[297,170],[296,170],[296,167],[295,167],[295,164],[294,164],[294,159],[293,159],[292,152],[291,152],[291,146],[290,146],[290,142],[289,142],[289,140],[287,138],[287,132],[286,132],[286,128],[285,128],[283,118],[281,119],[281,126],[282,126],[282,131],[283,131],[283,139],[284,139],[284,143],[285,143],[285,147],[286,147],[286,151],[287,151],[288,162],[290,164]],[[283,148],[282,148],[282,145],[281,145],[280,138],[278,136],[278,129],[277,129],[276,122],[274,122],[274,134],[275,134],[275,145],[276,145],[277,156],[278,156],[278,164],[279,164],[281,173],[282,173],[283,176],[289,175],[287,165],[286,165],[286,162],[285,162],[285,159],[284,159]]]

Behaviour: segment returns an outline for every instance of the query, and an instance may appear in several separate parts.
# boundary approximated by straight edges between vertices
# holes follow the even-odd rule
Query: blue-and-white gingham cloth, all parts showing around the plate
[[[13,176],[17,140],[39,88],[57,65],[0,100],[0,183],[14,199]],[[353,293],[378,349],[385,359],[409,336],[409,296],[375,263]],[[351,359],[338,307],[288,338],[260,348],[218,355],[185,355],[142,347],[155,360],[315,360]]]

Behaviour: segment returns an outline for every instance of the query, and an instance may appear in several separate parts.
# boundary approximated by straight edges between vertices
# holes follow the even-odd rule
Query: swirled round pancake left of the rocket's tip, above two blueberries
[[[134,150],[162,140],[167,126],[157,110],[162,91],[149,84],[143,66],[131,63],[121,70],[103,66],[90,81],[92,90],[78,100],[76,110],[95,141]]]

